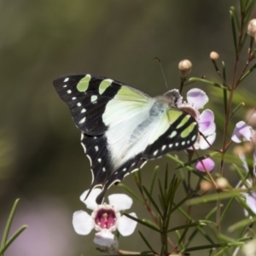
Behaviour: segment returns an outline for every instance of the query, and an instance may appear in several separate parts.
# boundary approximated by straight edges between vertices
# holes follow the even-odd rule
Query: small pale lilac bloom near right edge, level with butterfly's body
[[[252,137],[252,127],[247,125],[244,121],[240,121],[236,124],[236,127],[233,131],[231,140],[234,143],[241,143],[242,140],[249,142]]]

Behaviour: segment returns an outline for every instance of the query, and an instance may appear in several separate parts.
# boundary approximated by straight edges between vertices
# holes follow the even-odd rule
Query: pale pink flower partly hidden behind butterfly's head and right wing
[[[198,122],[199,131],[207,138],[207,142],[212,145],[216,138],[216,125],[214,123],[214,113],[210,109],[205,109],[202,113],[198,109],[204,108],[209,101],[207,94],[198,88],[194,88],[187,93],[187,102],[179,100],[177,108],[181,108],[191,114]],[[195,149],[207,149],[209,144],[204,137],[199,135],[194,144]]]

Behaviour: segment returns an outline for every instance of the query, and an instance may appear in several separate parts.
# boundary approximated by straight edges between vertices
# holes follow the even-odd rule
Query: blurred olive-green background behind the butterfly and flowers
[[[239,2],[22,0],[0,3],[0,227],[3,230],[17,197],[21,201],[13,230],[21,224],[30,226],[6,256],[99,253],[92,243],[94,231],[90,236],[79,236],[73,230],[73,212],[86,210],[79,195],[90,186],[90,165],[79,143],[80,133],[66,104],[56,94],[53,79],[65,73],[94,73],[157,96],[165,93],[166,87],[154,57],[162,61],[172,89],[179,85],[177,64],[182,59],[192,61],[191,76],[215,77],[209,54],[216,50],[220,60],[226,62],[230,82],[234,63],[230,5],[238,7]],[[251,75],[242,84],[253,93],[254,77]],[[210,101],[221,104],[221,99],[211,98],[210,87],[195,86],[206,90]],[[164,157],[143,167],[145,184],[155,165],[161,166],[160,175],[164,173],[167,161]],[[135,188],[132,176],[126,177],[125,183]],[[116,187],[108,194],[114,192],[124,190]],[[194,213],[199,214],[196,211],[195,208]],[[131,212],[149,218],[137,202]],[[207,208],[198,218],[205,212]],[[241,218],[242,210],[237,214]],[[183,218],[177,214],[173,222],[179,220],[182,223]],[[154,246],[159,245],[153,232],[139,229]],[[121,237],[120,248],[147,249],[137,232]]]

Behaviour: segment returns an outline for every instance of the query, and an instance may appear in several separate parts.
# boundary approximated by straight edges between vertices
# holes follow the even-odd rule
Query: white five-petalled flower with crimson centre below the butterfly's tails
[[[101,189],[92,189],[84,201],[88,192],[89,190],[86,190],[80,196],[80,200],[92,210],[91,214],[83,210],[73,213],[73,228],[79,235],[88,235],[95,229],[97,233],[94,242],[109,247],[115,243],[113,231],[119,230],[122,236],[130,236],[134,232],[137,222],[120,214],[120,211],[131,208],[131,197],[125,194],[113,194],[108,196],[109,204],[97,205],[96,197],[101,193]],[[130,215],[137,218],[135,212],[131,212]]]

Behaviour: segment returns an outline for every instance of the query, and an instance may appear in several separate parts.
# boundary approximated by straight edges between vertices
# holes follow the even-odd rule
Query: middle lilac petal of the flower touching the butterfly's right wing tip
[[[210,109],[204,110],[200,115],[199,130],[205,135],[211,135],[216,131],[214,123],[214,113]]]

